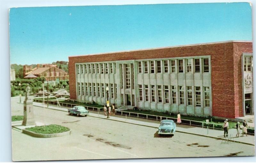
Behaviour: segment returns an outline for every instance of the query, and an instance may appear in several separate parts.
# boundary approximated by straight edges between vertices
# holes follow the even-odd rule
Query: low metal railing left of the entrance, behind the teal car
[[[40,102],[43,103],[43,100],[39,100],[39,99],[34,99],[34,102]],[[47,100],[44,100],[44,103],[47,104]],[[51,105],[58,105],[58,101],[48,101],[48,104]],[[70,104],[70,103],[65,103],[65,102],[60,102],[59,101],[60,106],[64,106],[64,107],[74,107],[74,106],[82,106],[85,107],[87,110],[92,110],[92,111],[104,111],[103,107],[91,107],[91,106],[85,106],[85,105],[78,105],[78,104]]]

